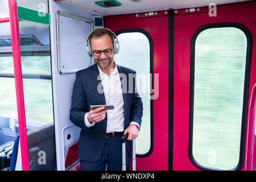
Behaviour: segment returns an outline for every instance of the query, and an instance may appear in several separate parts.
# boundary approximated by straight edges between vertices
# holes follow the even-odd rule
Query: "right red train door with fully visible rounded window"
[[[256,2],[210,7],[174,11],[173,169],[251,170]]]

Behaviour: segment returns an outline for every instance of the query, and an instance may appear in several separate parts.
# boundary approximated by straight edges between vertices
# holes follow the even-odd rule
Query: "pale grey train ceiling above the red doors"
[[[101,0],[63,0],[68,6],[76,7],[90,14],[108,16],[117,14],[143,13],[149,11],[176,10],[209,6],[212,0],[116,0],[121,6],[101,7],[96,3]],[[110,0],[110,4],[112,0]],[[247,0],[214,0],[216,5],[243,2]]]

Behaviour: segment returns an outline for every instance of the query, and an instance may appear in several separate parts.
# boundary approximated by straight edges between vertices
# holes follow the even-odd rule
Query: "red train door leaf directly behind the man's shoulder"
[[[110,28],[110,30],[112,30],[113,32],[117,32],[118,35],[121,35],[120,33],[123,33],[123,32],[142,32],[144,35],[147,36],[150,42],[150,50],[148,49],[150,51],[150,59],[148,59],[145,64],[150,64],[151,74],[156,73],[154,77],[155,96],[154,96],[154,99],[151,99],[150,101],[146,100],[145,102],[143,102],[143,107],[144,107],[143,117],[147,117],[147,118],[145,118],[144,121],[142,120],[142,122],[149,123],[150,125],[148,125],[147,128],[142,126],[142,129],[139,135],[144,135],[143,134],[144,131],[142,130],[150,131],[148,134],[148,137],[145,137],[145,139],[151,138],[151,140],[149,142],[150,147],[148,147],[148,151],[144,152],[143,155],[137,155],[136,163],[137,163],[137,170],[167,170],[168,168],[168,102],[167,102],[168,101],[168,11],[106,16],[104,19],[104,27]],[[130,39],[126,39],[125,42],[122,42],[121,40],[119,40],[120,49],[122,48],[122,45],[129,42],[129,40]],[[139,41],[138,44],[140,43],[141,42]],[[132,47],[131,49],[125,50],[126,54],[127,55],[133,54],[131,51],[134,51],[134,49],[137,49],[136,46],[138,46],[138,44],[137,45],[133,44],[134,47]],[[139,47],[143,47],[143,46],[139,46]],[[119,56],[120,51],[116,56]],[[138,55],[135,55],[135,56],[137,57],[135,57],[135,59],[133,60],[130,60],[129,63],[133,62],[134,63],[133,65],[135,65],[134,67],[135,71],[138,71],[138,69],[141,69],[141,67],[144,67],[146,65],[139,66],[140,62],[143,60]],[[125,57],[124,59],[126,58],[129,59],[128,57]],[[122,65],[122,63],[120,62],[121,60],[117,59],[116,61],[117,61],[117,64]],[[137,75],[137,81],[138,81],[138,75]],[[137,142],[137,148],[141,146],[141,144],[138,144],[138,142]],[[144,144],[143,142],[141,143]]]

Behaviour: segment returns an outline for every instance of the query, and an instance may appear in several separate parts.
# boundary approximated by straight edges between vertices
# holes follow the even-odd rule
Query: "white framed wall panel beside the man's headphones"
[[[56,13],[57,61],[60,74],[75,73],[91,65],[86,52],[86,39],[93,21],[62,11]]]

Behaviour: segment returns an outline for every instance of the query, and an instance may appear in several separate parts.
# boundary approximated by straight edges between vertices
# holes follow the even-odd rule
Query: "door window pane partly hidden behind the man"
[[[137,88],[143,102],[143,117],[139,137],[136,139],[136,153],[142,157],[150,155],[153,119],[152,100],[150,100],[152,44],[150,43],[151,38],[145,32],[143,30],[118,31],[117,38],[120,50],[114,57],[117,64],[137,72]]]

